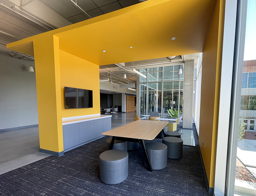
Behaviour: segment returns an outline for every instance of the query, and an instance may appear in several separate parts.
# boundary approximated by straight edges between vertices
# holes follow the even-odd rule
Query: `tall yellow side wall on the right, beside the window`
[[[225,1],[218,0],[204,44],[199,125],[199,145],[209,186],[214,187],[217,125],[220,97],[220,69]],[[203,146],[204,142],[204,146]]]

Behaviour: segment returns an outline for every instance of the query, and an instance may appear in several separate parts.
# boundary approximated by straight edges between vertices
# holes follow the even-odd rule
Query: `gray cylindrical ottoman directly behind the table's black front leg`
[[[159,142],[145,144],[152,170],[162,170],[167,166],[167,146]],[[144,158],[144,165],[148,167]]]

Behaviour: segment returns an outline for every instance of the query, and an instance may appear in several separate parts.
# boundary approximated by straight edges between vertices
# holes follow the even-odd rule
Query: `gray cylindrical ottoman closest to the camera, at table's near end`
[[[124,150],[107,150],[100,154],[100,180],[116,185],[128,177],[128,153]]]

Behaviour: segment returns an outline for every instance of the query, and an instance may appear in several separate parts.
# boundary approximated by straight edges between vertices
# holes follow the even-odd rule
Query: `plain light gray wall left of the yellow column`
[[[0,52],[0,130],[38,124],[36,74],[29,66]]]

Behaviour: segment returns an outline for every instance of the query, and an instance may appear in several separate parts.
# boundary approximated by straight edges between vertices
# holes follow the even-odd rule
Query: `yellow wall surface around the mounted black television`
[[[93,108],[65,109],[64,86],[92,90]],[[60,50],[62,118],[100,113],[99,66]]]

